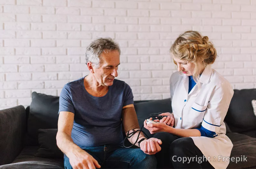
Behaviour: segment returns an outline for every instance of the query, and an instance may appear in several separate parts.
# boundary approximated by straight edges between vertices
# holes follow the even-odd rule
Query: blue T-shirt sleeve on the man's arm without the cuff
[[[60,92],[60,106],[59,106],[59,113],[60,112],[71,112],[75,114],[75,108],[72,102],[72,95],[69,90],[68,85],[64,85]],[[58,113],[58,114],[59,114]]]

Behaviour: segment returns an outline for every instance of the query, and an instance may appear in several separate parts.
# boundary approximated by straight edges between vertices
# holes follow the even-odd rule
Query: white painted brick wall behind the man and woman
[[[168,50],[191,29],[212,40],[213,68],[234,88],[256,87],[255,0],[0,0],[0,109],[28,106],[34,91],[59,95],[106,36],[121,46],[118,78],[134,99],[168,98]]]

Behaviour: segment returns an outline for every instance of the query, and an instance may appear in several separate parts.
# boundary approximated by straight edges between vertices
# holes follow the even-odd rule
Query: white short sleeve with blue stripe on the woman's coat
[[[209,100],[202,126],[213,132],[219,132],[228,112],[234,90],[229,84],[220,84],[215,87]]]

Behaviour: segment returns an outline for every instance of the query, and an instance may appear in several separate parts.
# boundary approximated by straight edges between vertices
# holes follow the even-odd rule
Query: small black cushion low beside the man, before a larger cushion
[[[38,143],[40,148],[36,157],[42,158],[63,158],[63,153],[57,146],[56,135],[58,129],[39,129]]]

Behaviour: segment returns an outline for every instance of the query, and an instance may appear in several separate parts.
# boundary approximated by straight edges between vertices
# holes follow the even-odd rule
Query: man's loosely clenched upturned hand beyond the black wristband
[[[140,143],[140,149],[148,155],[156,154],[161,150],[162,141],[157,138],[149,138]]]

